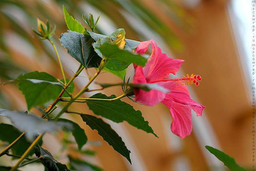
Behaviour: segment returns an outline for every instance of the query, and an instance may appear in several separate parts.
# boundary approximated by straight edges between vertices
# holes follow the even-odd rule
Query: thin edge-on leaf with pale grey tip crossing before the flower
[[[118,83],[118,84],[102,84],[102,83],[99,83],[99,84],[103,88],[122,85],[122,86],[130,86],[132,88],[143,89],[145,91],[149,91],[151,89],[156,89],[156,90],[160,90],[160,91],[163,91],[163,92],[169,92],[168,89],[165,89],[164,87],[159,86],[157,83],[152,83],[152,84],[149,84],[149,83],[148,84],[121,84],[121,83]]]

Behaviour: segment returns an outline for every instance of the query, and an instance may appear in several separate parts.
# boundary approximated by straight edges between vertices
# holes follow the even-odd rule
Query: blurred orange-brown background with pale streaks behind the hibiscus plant
[[[243,0],[1,0],[0,1],[0,82],[15,79],[21,73],[47,72],[62,78],[54,49],[47,40],[35,39],[31,28],[37,30],[36,18],[56,25],[54,37],[67,78],[79,64],[60,45],[59,36],[67,31],[62,5],[82,23],[82,14],[94,18],[101,14],[95,32],[111,34],[124,28],[126,39],[154,39],[168,57],[182,59],[176,76],[199,74],[199,86],[189,85],[191,98],[206,106],[203,117],[192,112],[193,131],[180,140],[170,130],[169,109],[162,103],[148,107],[125,102],[142,112],[159,139],[128,125],[113,123],[112,128],[122,137],[132,152],[132,165],[92,131],[79,116],[64,114],[85,129],[89,143],[84,149],[95,150],[94,156],[80,156],[63,150],[61,133],[46,134],[43,147],[57,160],[67,163],[66,154],[82,157],[105,171],[213,171],[227,170],[204,146],[218,148],[234,157],[237,163],[252,165],[252,63],[251,25],[252,4]],[[249,48],[249,49],[248,49]],[[72,72],[73,71],[73,72]],[[93,74],[95,69],[90,69]],[[87,82],[86,73],[75,80],[76,89]],[[127,70],[133,75],[133,69]],[[122,82],[103,72],[97,82]],[[96,85],[95,85],[96,86]],[[93,94],[96,92],[93,92]],[[123,94],[121,87],[104,89],[104,94]],[[92,94],[84,94],[90,97]],[[48,104],[46,104],[48,106]],[[0,108],[27,110],[25,98],[14,84],[0,89]],[[78,112],[92,114],[86,104],[73,105]],[[37,113],[35,109],[30,112]],[[0,118],[1,122],[9,122]],[[15,160],[1,157],[0,164],[13,166]],[[44,170],[40,164],[21,170]],[[79,170],[80,171],[80,170]],[[81,170],[83,171],[83,170]]]

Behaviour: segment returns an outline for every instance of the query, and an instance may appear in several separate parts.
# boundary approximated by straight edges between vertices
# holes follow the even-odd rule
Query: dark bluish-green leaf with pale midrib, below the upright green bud
[[[95,40],[90,35],[81,34],[68,30],[61,33],[60,44],[68,49],[68,54],[86,68],[99,67],[101,58],[94,52],[92,43]]]

